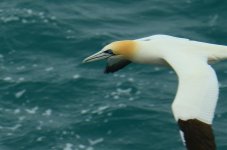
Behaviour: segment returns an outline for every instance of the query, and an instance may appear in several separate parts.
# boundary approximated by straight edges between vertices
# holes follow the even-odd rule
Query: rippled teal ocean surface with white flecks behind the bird
[[[0,150],[185,150],[176,74],[81,61],[109,42],[168,34],[227,45],[224,0],[1,0]],[[227,62],[213,122],[227,150]]]

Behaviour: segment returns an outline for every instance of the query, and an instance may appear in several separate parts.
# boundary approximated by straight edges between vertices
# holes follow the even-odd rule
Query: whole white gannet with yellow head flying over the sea
[[[107,59],[105,73],[131,62],[170,66],[178,76],[172,111],[188,150],[215,150],[212,121],[219,86],[211,62],[227,59],[227,46],[168,35],[116,41],[87,57],[83,63]]]

